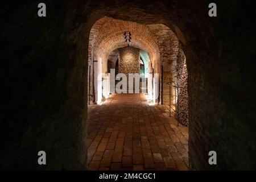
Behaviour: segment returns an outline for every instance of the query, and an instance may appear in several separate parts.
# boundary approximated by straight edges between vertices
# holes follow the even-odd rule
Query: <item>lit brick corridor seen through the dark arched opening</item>
[[[88,52],[88,169],[188,170],[187,67],[174,32],[105,16]]]

